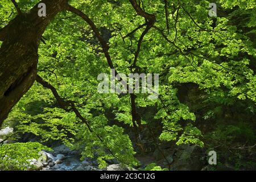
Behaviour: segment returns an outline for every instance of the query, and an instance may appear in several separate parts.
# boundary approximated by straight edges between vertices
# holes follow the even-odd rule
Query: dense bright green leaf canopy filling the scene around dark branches
[[[39,1],[17,2],[22,11],[28,11]],[[110,75],[105,52],[88,23],[68,11],[59,13],[44,32],[38,75],[64,101],[72,102],[86,122],[71,107],[63,109],[51,89],[35,82],[4,126],[14,126],[19,140],[30,134],[48,146],[61,141],[79,149],[82,158],[97,158],[102,168],[110,159],[137,166],[134,155],[147,150],[138,137],[141,135],[154,140],[155,146],[162,142],[207,149],[221,145],[221,163],[225,163],[221,155],[229,155],[230,146],[253,146],[255,1],[216,1],[216,17],[208,15],[209,2],[204,0],[137,2],[144,12],[155,15],[156,22],[143,37],[135,66],[139,39],[147,25],[129,1],[72,0],[69,4],[93,20],[109,44],[109,55],[118,73],[160,74],[157,100],[149,100],[148,94],[136,94],[141,126],[137,120],[138,126],[134,126],[130,94],[97,92],[97,76]],[[16,11],[11,1],[2,0],[0,4],[0,27],[4,27]],[[35,152],[26,156],[31,147],[36,148]],[[11,165],[16,169],[42,149],[34,143],[3,144],[0,168]],[[243,161],[253,163],[246,158],[247,153],[234,153],[234,158],[241,156],[234,164],[237,169]],[[7,164],[9,159],[11,164]],[[146,169],[162,168],[152,164]]]

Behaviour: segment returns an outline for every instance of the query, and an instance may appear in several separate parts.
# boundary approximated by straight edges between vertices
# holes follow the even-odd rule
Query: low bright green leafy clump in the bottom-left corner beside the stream
[[[31,166],[29,160],[38,159],[38,152],[51,150],[37,142],[10,143],[0,146],[0,169],[1,170],[27,170]]]

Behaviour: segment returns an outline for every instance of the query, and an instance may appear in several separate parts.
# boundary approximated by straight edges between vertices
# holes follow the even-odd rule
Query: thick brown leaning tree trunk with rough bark
[[[42,34],[55,15],[67,7],[68,0],[41,3],[46,4],[46,17],[38,16],[36,5],[30,13],[19,14],[0,30],[0,126],[34,83]]]

